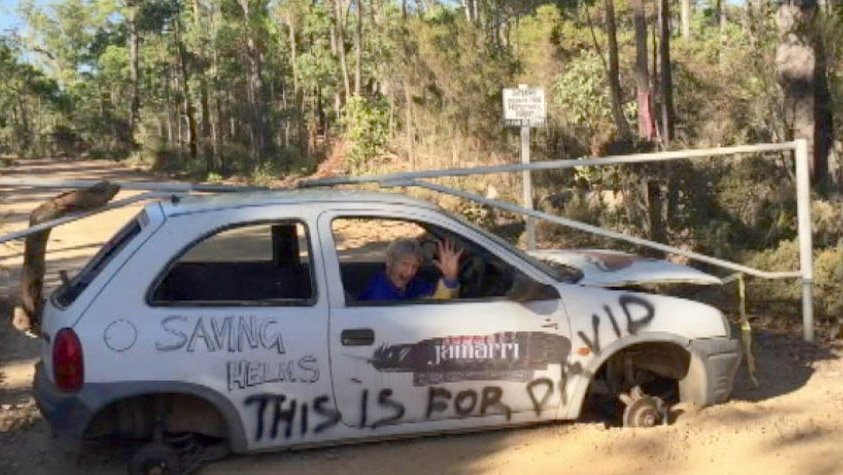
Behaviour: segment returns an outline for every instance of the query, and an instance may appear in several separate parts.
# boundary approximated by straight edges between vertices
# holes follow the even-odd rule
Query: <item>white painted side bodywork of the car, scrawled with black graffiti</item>
[[[360,215],[398,217],[445,228],[524,276],[554,285],[561,299],[346,307],[330,220]],[[63,310],[48,305],[45,332],[54,336],[61,327],[74,328],[84,348],[87,383],[188,382],[223,395],[239,411],[249,451],[570,417],[569,406],[578,407],[577,401],[571,401],[574,388],[588,383],[588,375],[570,369],[577,364],[587,366],[601,356],[595,346],[597,335],[601,348],[631,334],[670,333],[685,339],[726,335],[716,309],[657,295],[556,283],[505,244],[426,202],[401,195],[334,191],[225,195],[153,204],[146,208],[146,216],[141,234],[72,305]],[[234,224],[289,219],[301,221],[309,230],[316,296],[312,305],[162,307],[147,303],[147,291],[162,269],[202,236]],[[615,317],[617,331],[609,314]],[[596,334],[595,316],[600,319]],[[232,326],[226,330],[226,324]],[[237,336],[250,328],[257,332],[256,343],[250,345],[245,339],[238,347]],[[372,329],[374,344],[343,345],[343,330],[355,328]],[[235,335],[234,340],[229,335]],[[443,340],[448,337],[461,339]],[[577,354],[578,348],[588,346],[586,339],[593,351]],[[469,357],[465,356],[469,350],[462,347],[442,349],[468,345],[467,341],[479,345],[472,347]],[[570,353],[563,362],[546,358],[549,352],[535,353],[546,346],[534,345],[545,341],[567,342]],[[454,372],[449,373],[451,380],[436,382],[423,366],[414,371],[380,371],[372,364],[381,345],[420,342],[439,344],[437,352],[451,352],[439,357],[427,354],[432,366],[446,354],[489,359],[499,365],[529,367],[524,372],[529,379],[518,379],[516,372],[495,373],[499,367],[494,367],[483,376],[486,379],[477,379],[479,373],[462,377],[463,373]],[[521,348],[526,348],[524,353]],[[50,361],[49,344],[44,345],[43,355]],[[292,368],[295,381],[263,382],[266,368],[279,365]],[[232,379],[232,368],[245,368],[245,376]],[[51,375],[52,371],[48,368],[47,372]],[[416,373],[421,374],[419,384]],[[443,396],[443,391],[450,395]],[[262,400],[267,394],[274,399]],[[490,403],[485,414],[483,397]],[[498,403],[511,410],[509,418]],[[341,414],[341,422],[332,424],[336,414]],[[388,423],[376,424],[384,420]]]

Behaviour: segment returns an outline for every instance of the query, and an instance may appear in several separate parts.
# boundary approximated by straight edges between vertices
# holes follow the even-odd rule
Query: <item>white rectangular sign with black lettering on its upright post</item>
[[[544,102],[544,89],[528,88],[519,84],[518,89],[503,90],[503,121],[507,127],[521,128],[521,163],[530,163],[530,127],[545,124],[547,110]],[[533,183],[530,171],[523,172],[523,206],[533,209]],[[527,217],[527,249],[536,248],[536,221]]]

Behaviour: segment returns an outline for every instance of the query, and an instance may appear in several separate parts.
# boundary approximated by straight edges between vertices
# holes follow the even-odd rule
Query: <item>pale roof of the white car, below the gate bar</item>
[[[244,206],[306,205],[312,203],[403,204],[438,209],[436,205],[403,193],[338,190],[335,188],[267,190],[180,196],[161,202],[166,216]]]

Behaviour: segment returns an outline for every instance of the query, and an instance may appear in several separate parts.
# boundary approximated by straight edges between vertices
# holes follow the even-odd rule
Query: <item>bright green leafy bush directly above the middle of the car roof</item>
[[[354,172],[365,170],[385,151],[389,104],[383,99],[354,96],[343,108],[345,137],[351,143],[347,160]]]

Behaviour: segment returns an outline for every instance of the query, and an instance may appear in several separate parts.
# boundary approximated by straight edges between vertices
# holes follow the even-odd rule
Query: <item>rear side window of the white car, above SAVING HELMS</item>
[[[150,304],[312,304],[309,242],[306,226],[294,221],[217,231],[189,246],[168,266]]]

